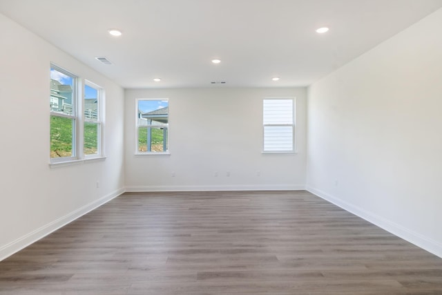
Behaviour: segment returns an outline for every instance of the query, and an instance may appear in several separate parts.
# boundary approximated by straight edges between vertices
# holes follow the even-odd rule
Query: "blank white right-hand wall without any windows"
[[[309,87],[307,189],[442,257],[442,10]]]

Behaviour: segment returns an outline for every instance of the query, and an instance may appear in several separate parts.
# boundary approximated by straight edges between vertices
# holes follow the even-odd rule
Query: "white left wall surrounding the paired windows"
[[[0,26],[1,260],[122,193],[124,91],[3,15]],[[105,89],[106,160],[50,168],[50,62]]]

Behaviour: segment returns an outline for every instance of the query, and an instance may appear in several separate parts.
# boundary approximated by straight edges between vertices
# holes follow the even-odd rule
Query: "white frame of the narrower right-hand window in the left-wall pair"
[[[84,95],[83,95],[83,99],[82,99],[82,110],[84,110],[81,115],[83,117],[83,122],[82,122],[82,126],[83,126],[83,130],[82,130],[82,136],[81,138],[83,139],[82,142],[82,148],[81,148],[81,153],[84,154],[84,123],[86,122],[90,122],[93,124],[97,124],[98,128],[97,128],[97,153],[92,154],[92,155],[86,155],[84,154],[84,158],[85,159],[93,159],[93,158],[101,158],[104,155],[104,149],[103,149],[103,142],[104,142],[104,132],[103,132],[103,104],[104,104],[104,89],[100,86],[98,86],[97,84],[90,82],[89,80],[85,79],[84,80],[84,87],[86,88],[86,86],[89,86],[91,88],[94,88],[97,91],[97,120],[89,120],[88,118],[86,118],[86,115],[84,115],[84,111],[86,111],[86,90],[84,90]]]

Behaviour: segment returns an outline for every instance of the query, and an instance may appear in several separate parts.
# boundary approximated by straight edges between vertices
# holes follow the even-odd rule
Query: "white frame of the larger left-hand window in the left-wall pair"
[[[81,149],[79,146],[79,142],[81,142],[79,137],[79,129],[81,118],[79,118],[79,114],[81,114],[81,111],[79,111],[79,103],[78,103],[78,97],[79,93],[81,91],[79,90],[79,77],[73,73],[70,73],[70,71],[65,70],[64,68],[61,68],[55,64],[50,64],[50,70],[57,70],[60,73],[63,73],[64,75],[68,75],[69,77],[73,78],[73,89],[72,89],[72,115],[68,115],[65,113],[59,113],[56,111],[50,110],[50,117],[56,116],[56,117],[65,117],[70,120],[73,120],[73,134],[72,134],[72,155],[70,157],[60,157],[60,158],[50,158],[50,163],[58,163],[58,162],[73,162],[75,160],[79,159],[79,156],[81,155]],[[50,131],[49,131],[50,132]]]

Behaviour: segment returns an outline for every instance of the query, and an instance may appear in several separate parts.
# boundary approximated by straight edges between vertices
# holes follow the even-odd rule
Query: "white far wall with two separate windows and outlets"
[[[262,154],[267,96],[296,97],[298,154]],[[171,155],[135,155],[137,98],[169,98]],[[129,89],[125,99],[128,191],[305,188],[305,88]]]

